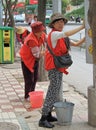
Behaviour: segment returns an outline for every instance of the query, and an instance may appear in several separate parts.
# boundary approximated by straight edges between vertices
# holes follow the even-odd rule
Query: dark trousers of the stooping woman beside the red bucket
[[[25,66],[23,61],[21,61],[21,66],[22,66],[22,72],[23,72],[24,82],[25,82],[25,98],[28,98],[29,92],[32,92],[35,90],[36,82],[38,79],[39,61],[35,62],[34,72],[31,72]]]

